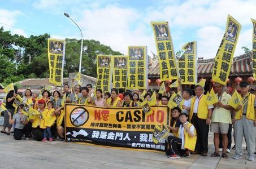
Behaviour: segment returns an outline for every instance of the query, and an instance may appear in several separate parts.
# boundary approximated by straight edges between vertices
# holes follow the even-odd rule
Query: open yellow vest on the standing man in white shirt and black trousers
[[[198,103],[198,108],[197,108],[197,117],[201,118],[201,119],[207,119],[208,117],[208,105],[206,103],[207,97],[206,95],[203,95],[200,99],[199,99],[199,103]],[[190,113],[189,113],[189,120],[192,119],[193,116],[193,109],[194,109],[194,103],[196,101],[196,97],[193,97],[191,99],[191,109],[190,109]]]

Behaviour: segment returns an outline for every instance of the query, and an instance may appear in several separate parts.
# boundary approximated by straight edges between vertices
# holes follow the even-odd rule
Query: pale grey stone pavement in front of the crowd
[[[256,162],[245,159],[212,158],[214,152],[212,133],[209,133],[207,157],[167,158],[164,153],[123,150],[102,146],[53,141],[16,141],[0,134],[0,168],[256,168]],[[232,145],[233,146],[233,145]],[[245,145],[243,145],[245,149]]]

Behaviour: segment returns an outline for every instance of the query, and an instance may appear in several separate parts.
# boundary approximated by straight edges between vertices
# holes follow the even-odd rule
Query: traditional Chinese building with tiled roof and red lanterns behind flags
[[[154,54],[153,54],[154,55]],[[235,78],[240,77],[243,81],[248,81],[248,78],[253,76],[253,70],[251,68],[251,52],[233,57],[233,63],[231,66],[231,72],[229,74],[228,86],[236,88]],[[197,73],[198,81],[201,78],[206,78],[206,87],[211,86],[211,74],[212,67],[214,65],[214,59],[203,59],[199,57],[197,61]],[[151,80],[149,88],[158,88],[158,84],[155,82],[159,79],[159,63],[153,64],[152,68],[149,69],[148,78]],[[256,86],[254,82],[251,87]]]

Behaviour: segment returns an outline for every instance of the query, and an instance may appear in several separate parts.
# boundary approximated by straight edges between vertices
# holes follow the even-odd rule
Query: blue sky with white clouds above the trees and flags
[[[214,58],[225,32],[228,14],[242,29],[235,56],[251,49],[256,0],[0,0],[0,26],[29,37],[49,33],[53,38],[81,38],[79,29],[63,15],[66,12],[83,31],[127,55],[127,46],[147,46],[156,53],[150,21],[168,21],[175,52],[186,42],[198,42],[198,57]],[[14,28],[15,27],[15,28]]]

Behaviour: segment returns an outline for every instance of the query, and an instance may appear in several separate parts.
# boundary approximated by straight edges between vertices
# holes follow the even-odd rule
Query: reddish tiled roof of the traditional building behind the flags
[[[236,75],[252,75],[253,70],[251,68],[251,52],[248,54],[233,57],[233,63],[231,66],[231,72],[229,76]],[[214,59],[197,60],[197,73],[200,77],[211,76],[212,67],[214,65]],[[159,77],[159,63],[148,72],[148,77]]]

